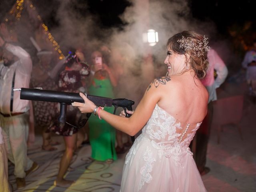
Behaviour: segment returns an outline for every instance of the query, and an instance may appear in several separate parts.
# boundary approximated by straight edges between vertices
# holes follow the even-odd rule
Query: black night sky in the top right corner
[[[195,18],[213,20],[224,34],[227,27],[234,24],[243,25],[246,21],[252,21],[255,26],[255,0],[190,0],[190,7]]]

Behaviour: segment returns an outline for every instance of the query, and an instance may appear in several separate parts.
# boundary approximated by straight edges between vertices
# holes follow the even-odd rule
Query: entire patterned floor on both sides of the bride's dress
[[[226,87],[219,96],[236,94],[233,88]],[[228,95],[227,95],[228,92]],[[208,145],[207,164],[210,172],[202,176],[209,192],[255,192],[256,191],[256,105],[248,98],[244,101],[241,121],[244,140],[241,140],[238,130],[232,125],[224,126],[220,144],[217,144],[217,131],[212,127]],[[16,190],[13,176],[13,165],[9,166],[9,180],[14,191],[24,192],[118,192],[120,190],[122,166],[126,154],[118,156],[112,164],[104,162],[86,162],[90,156],[90,145],[80,148],[72,160],[70,171],[66,178],[76,180],[69,188],[54,187],[53,181],[58,172],[60,157],[64,151],[61,136],[54,140],[62,144],[58,150],[46,152],[41,150],[42,138],[36,135],[35,144],[29,148],[29,157],[36,161],[40,168],[26,177],[26,188]]]

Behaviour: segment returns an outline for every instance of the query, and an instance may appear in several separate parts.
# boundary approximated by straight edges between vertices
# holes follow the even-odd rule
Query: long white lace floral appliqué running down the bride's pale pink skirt
[[[150,183],[152,181],[152,176],[150,172],[152,172],[152,164],[156,162],[156,159],[153,158],[153,154],[148,147],[146,148],[146,151],[143,153],[143,159],[146,162],[145,166],[143,166],[140,169],[140,174],[142,175],[142,178],[140,180],[140,186],[139,189],[142,188],[144,183]]]

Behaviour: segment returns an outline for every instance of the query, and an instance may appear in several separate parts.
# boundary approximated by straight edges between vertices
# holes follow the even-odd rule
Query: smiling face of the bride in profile
[[[186,64],[186,56],[184,54],[174,53],[170,48],[167,50],[167,56],[164,60],[164,64],[166,64],[168,76],[180,74]]]

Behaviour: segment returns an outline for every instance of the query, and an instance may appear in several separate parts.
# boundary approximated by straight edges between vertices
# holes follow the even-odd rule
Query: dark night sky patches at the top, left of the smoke
[[[1,0],[0,1],[0,20],[2,21],[6,12],[8,12],[16,0]],[[46,15],[43,12],[47,12],[44,17],[44,22],[48,26],[55,27],[58,25],[58,21],[54,19],[56,12],[52,8],[58,8],[59,2],[57,0],[32,0],[34,6],[38,8],[41,16]],[[74,1],[73,1],[74,2]],[[98,15],[101,20],[101,25],[104,28],[120,26],[123,23],[118,17],[122,14],[126,6],[130,6],[131,3],[127,0],[76,0],[77,4],[70,4],[81,15],[85,13],[91,13]],[[88,4],[88,6],[84,6]],[[49,8],[50,7],[50,8]],[[88,8],[87,8],[88,7]]]

